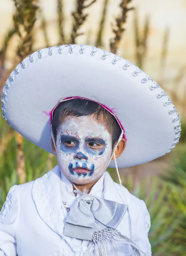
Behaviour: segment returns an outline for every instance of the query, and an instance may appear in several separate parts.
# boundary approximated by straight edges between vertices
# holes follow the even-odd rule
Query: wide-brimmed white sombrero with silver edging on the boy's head
[[[44,48],[25,58],[3,88],[3,117],[53,154],[46,112],[68,97],[91,99],[117,112],[127,138],[119,167],[154,160],[179,141],[180,118],[161,87],[129,61],[87,45]]]

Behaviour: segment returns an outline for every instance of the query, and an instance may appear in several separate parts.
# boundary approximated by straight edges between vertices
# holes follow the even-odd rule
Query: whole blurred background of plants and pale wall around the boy
[[[23,58],[44,47],[88,44],[128,59],[166,91],[181,118],[169,154],[120,169],[123,185],[151,215],[153,256],[186,256],[186,1],[1,0],[0,90]],[[11,186],[35,180],[56,158],[0,116],[0,209]],[[117,181],[114,169],[108,170]]]

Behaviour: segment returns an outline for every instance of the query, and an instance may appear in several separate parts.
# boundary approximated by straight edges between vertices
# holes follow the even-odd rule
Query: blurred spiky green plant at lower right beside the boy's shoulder
[[[114,181],[118,182],[116,171],[110,168],[108,171]],[[148,177],[141,183],[135,183],[132,175],[125,176],[122,183],[133,195],[145,201],[149,210],[152,255],[183,256],[186,250],[183,236],[186,237],[186,232],[183,232],[182,225],[186,227],[186,224],[180,207],[173,201],[175,191],[172,190],[172,184],[164,182],[159,177]]]

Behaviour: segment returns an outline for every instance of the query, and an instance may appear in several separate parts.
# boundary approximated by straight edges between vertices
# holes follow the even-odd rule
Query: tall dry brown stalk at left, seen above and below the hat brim
[[[22,61],[32,52],[33,29],[39,10],[38,0],[14,0],[16,12],[14,14],[14,29],[19,36],[17,56]],[[23,154],[23,137],[16,132],[17,142],[17,176],[20,183],[26,182],[25,160]]]

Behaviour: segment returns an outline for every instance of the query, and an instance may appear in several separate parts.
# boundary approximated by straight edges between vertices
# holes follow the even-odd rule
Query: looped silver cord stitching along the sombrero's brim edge
[[[58,53],[62,53],[63,52],[63,48],[64,47],[69,47],[69,53],[73,53],[74,52],[74,48],[77,46],[77,44],[70,44],[70,45],[60,45],[60,46],[55,46],[55,47],[49,47],[49,48],[43,48],[43,49],[40,49],[38,50],[38,58],[42,58],[42,53],[45,49],[49,49],[49,52],[48,52],[48,55],[52,55],[52,52],[53,52],[53,49],[58,47]],[[80,50],[79,50],[79,53],[80,54],[83,54],[85,52],[85,49],[89,47],[88,45],[80,45]],[[92,47],[92,51],[90,52],[90,55],[94,56],[96,54],[97,51],[100,51],[101,49],[100,48],[97,48],[97,47]],[[29,60],[30,62],[34,62],[34,53],[32,53],[30,56],[29,56]],[[103,50],[103,55],[101,56],[101,59],[102,60],[105,60],[107,58],[108,55],[112,54],[112,52],[109,52],[109,51],[106,51],[106,50]],[[26,57],[20,64],[17,65],[17,67],[15,68],[15,73],[18,75],[19,74],[19,67],[20,65],[22,66],[23,69],[26,68],[26,64],[25,64],[25,61],[28,57]],[[116,64],[118,60],[120,59],[123,59],[117,55],[114,55],[114,59],[112,60],[112,64]],[[129,68],[129,66],[131,65],[134,65],[132,64],[131,62],[129,62],[128,60],[126,60],[126,64],[123,65],[123,70],[127,70]],[[136,67],[136,70],[133,71],[132,75],[133,76],[137,76],[139,73],[143,72],[143,70],[141,70],[140,68]],[[10,81],[14,81],[14,77],[13,77],[13,73],[14,73],[14,70],[11,72],[10,76],[9,76],[9,79]],[[6,122],[9,124],[8,120],[6,119],[6,116],[5,116],[5,102],[3,100],[3,98],[6,98],[6,90],[5,90],[5,87],[7,90],[9,90],[9,79],[7,79],[6,83],[5,83],[5,86],[3,87],[3,93],[2,93],[2,96],[1,96],[1,109],[2,109],[2,115],[3,115],[3,118],[6,120]],[[143,79],[141,79],[141,82],[142,83],[146,83],[147,81],[153,81],[153,79],[146,75]],[[157,84],[155,81],[153,81],[154,84],[151,85],[149,87],[150,90],[155,90],[155,88],[158,88],[160,87],[159,84]],[[157,94],[157,98],[160,99],[162,96],[167,96],[167,94],[165,93],[165,91],[162,89],[161,90],[161,93],[158,93]],[[173,104],[172,101],[168,98],[166,102],[163,102],[163,106],[168,106],[168,105],[171,105]],[[172,113],[177,113],[177,110],[175,108],[175,106],[173,106],[173,109],[172,110],[169,110],[169,114],[172,114]],[[179,123],[177,125],[174,126],[174,129],[177,130],[178,128],[180,128],[181,126],[181,122],[180,122],[180,117],[179,115],[177,114],[177,117],[176,118],[173,118],[172,119],[172,122],[177,122],[179,121]],[[10,125],[10,124],[9,124]],[[10,125],[11,126],[11,125]],[[181,132],[181,128],[179,130],[177,130],[175,132],[175,135],[179,134]],[[175,145],[178,143],[179,141],[179,138],[180,138],[180,135],[175,137],[174,140],[177,140],[175,143],[172,144],[172,147],[169,149],[168,152],[166,152],[165,154],[169,153],[173,148],[175,148]],[[163,155],[165,155],[163,154]]]

